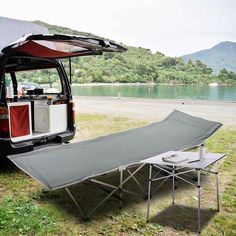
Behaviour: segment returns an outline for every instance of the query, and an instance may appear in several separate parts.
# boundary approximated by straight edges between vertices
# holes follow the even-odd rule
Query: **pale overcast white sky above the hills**
[[[1,1],[0,16],[41,20],[181,56],[236,42],[236,0]]]

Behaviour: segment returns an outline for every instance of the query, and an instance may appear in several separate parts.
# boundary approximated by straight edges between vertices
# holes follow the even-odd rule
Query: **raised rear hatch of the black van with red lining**
[[[6,56],[68,58],[99,55],[103,52],[124,52],[127,49],[113,42],[73,35],[28,35],[9,44],[2,52]]]

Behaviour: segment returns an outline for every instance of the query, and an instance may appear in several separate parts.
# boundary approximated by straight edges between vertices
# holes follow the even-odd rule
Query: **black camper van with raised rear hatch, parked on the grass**
[[[73,139],[75,108],[60,59],[125,50],[99,38],[72,35],[27,35],[3,48],[0,157]]]

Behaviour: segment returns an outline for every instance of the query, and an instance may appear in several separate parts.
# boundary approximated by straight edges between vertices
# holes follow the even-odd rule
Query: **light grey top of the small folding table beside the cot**
[[[206,153],[205,157],[199,160],[198,152],[169,151],[151,158],[144,159],[141,161],[141,163],[156,164],[161,166],[180,166],[192,169],[205,169],[225,156],[226,154],[222,153]],[[165,160],[163,160],[163,158],[165,158]]]

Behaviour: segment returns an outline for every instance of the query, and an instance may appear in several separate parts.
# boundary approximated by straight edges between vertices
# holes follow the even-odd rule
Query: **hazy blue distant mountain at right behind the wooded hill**
[[[182,58],[186,62],[200,60],[217,73],[223,68],[236,72],[236,43],[222,42],[210,49],[184,55]]]

